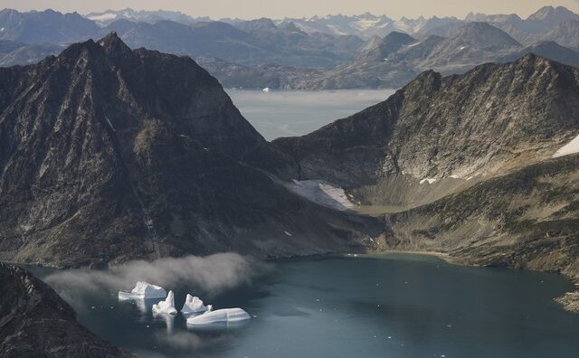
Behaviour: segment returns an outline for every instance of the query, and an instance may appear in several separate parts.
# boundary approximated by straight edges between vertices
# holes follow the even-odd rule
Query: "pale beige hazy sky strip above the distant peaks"
[[[563,5],[579,13],[579,0],[0,0],[0,8],[62,12],[91,11],[132,7],[145,10],[176,10],[192,16],[212,18],[261,16],[309,17],[326,14],[387,14],[395,19],[454,15],[463,17],[470,11],[486,14],[512,14],[523,17],[543,5]]]

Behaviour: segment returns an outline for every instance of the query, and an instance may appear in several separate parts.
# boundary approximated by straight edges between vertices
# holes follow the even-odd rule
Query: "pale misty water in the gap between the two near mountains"
[[[384,101],[394,89],[261,90],[228,89],[242,115],[267,140],[308,134]]]

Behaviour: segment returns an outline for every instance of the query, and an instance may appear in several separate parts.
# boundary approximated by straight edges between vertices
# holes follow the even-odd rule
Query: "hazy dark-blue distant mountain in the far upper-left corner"
[[[99,31],[99,26],[77,13],[20,13],[4,9],[0,11],[0,29],[0,40],[58,44],[88,39]]]

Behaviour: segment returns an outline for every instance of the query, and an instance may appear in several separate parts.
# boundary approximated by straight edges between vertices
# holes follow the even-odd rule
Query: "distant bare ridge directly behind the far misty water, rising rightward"
[[[468,71],[485,62],[515,61],[527,53],[579,66],[579,52],[556,42],[522,45],[488,23],[462,24],[451,36],[423,40],[393,32],[366,42],[356,60],[326,71],[281,66],[251,68],[204,58],[201,61],[227,87],[272,89],[398,88],[422,71]]]

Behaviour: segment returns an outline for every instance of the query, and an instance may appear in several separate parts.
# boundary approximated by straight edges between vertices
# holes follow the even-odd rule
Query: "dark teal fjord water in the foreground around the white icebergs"
[[[145,356],[528,358],[579,352],[579,316],[552,300],[571,286],[555,274],[426,256],[293,259],[210,299],[187,282],[166,287],[177,308],[195,293],[252,316],[204,330],[187,327],[180,314],[152,316],[156,300],[119,302],[120,287],[89,296],[54,288],[94,333]]]

